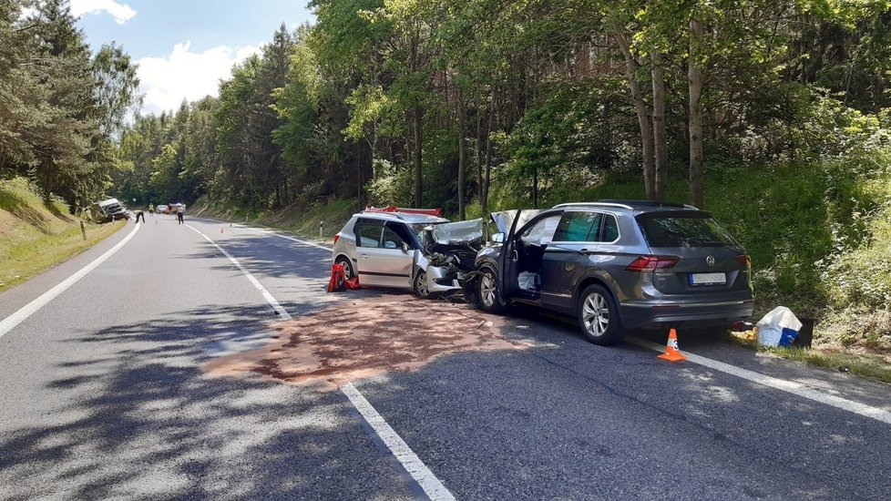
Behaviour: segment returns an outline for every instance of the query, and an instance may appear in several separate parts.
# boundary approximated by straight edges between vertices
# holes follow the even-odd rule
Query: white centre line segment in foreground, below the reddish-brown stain
[[[384,418],[381,417],[381,414],[378,414],[376,410],[374,410],[374,406],[369,404],[365,397],[359,393],[359,390],[353,386],[353,383],[346,383],[341,388],[343,394],[350,399],[350,402],[353,403],[356,410],[359,411],[360,414],[365,418],[365,421],[368,424],[371,424],[371,427],[374,428],[374,433],[377,434],[384,441],[384,444],[390,449],[390,452],[399,460],[399,463],[405,467],[405,470],[412,475],[412,478],[415,479],[415,482],[424,489],[425,494],[433,500],[450,500],[455,499],[455,496],[452,496],[452,493],[443,486],[443,483],[436,478],[436,475],[430,471],[430,468],[421,461],[415,452],[405,444],[405,440],[402,439],[396,432],[393,431],[393,428],[384,421]]]

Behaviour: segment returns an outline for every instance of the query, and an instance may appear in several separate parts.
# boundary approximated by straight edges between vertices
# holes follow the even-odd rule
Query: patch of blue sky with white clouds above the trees
[[[123,46],[139,65],[142,114],[217,96],[221,78],[282,25],[312,22],[308,0],[70,0],[94,51]]]

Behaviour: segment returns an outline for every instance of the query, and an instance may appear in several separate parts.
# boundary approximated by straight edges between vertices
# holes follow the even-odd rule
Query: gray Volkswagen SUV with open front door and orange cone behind
[[[729,325],[753,311],[751,260],[712,214],[599,200],[493,214],[467,289],[486,312],[513,302],[574,315],[592,343],[625,330]]]

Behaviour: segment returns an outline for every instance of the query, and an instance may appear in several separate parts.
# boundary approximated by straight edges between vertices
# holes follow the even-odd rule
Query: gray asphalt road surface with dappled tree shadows
[[[3,322],[129,238],[0,329],[0,498],[431,492],[347,394],[200,370],[266,343],[282,314],[199,231],[295,318],[387,292],[326,294],[330,252],[239,225],[187,223],[153,216],[132,236],[128,224],[0,294]],[[586,343],[572,325],[518,309],[501,333],[532,347],[457,353],[353,382],[446,495],[891,498],[886,384],[684,332],[682,351],[727,365],[667,363],[635,343]]]

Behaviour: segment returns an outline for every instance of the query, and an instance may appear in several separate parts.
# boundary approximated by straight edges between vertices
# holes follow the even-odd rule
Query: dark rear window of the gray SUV
[[[646,214],[637,220],[650,247],[738,247],[718,221],[706,213]]]

